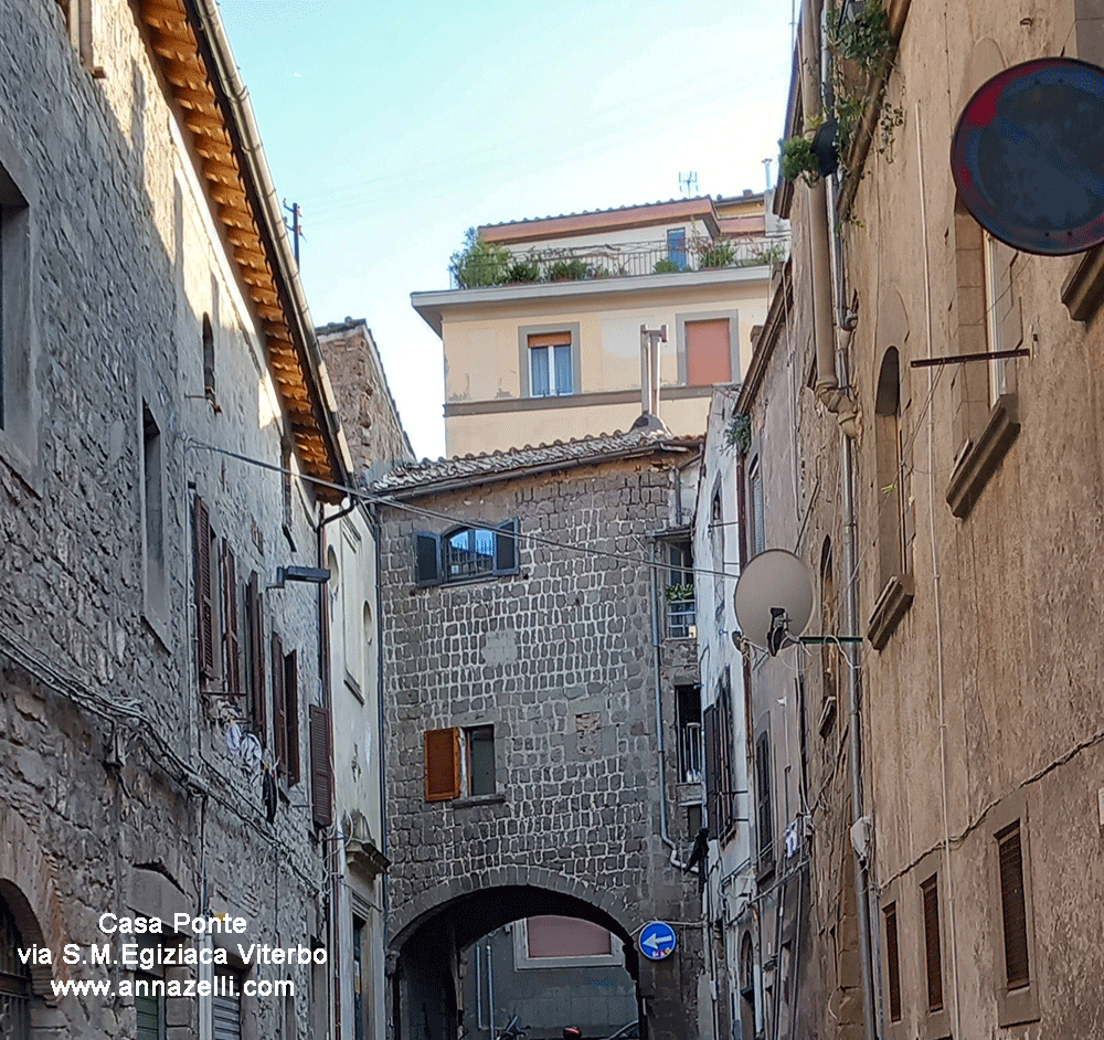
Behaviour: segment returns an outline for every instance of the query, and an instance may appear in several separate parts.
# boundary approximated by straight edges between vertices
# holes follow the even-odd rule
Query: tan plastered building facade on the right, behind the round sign
[[[891,151],[860,132],[842,158],[861,181],[779,191],[792,280],[741,397],[764,512],[813,577],[809,630],[862,638],[788,651],[811,832],[799,1002],[817,1036],[1092,1034],[1104,661],[1076,619],[1102,603],[1086,565],[1104,501],[1100,251],[990,238],[946,157],[996,73],[1100,64],[1101,11],[887,10],[894,64],[863,86],[869,112],[900,108]],[[803,18],[803,52],[820,54],[819,6]],[[818,93],[795,82],[789,132]]]

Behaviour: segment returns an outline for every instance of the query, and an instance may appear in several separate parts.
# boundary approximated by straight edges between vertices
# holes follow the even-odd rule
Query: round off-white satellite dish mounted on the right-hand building
[[[785,549],[753,558],[736,582],[736,620],[769,654],[793,646],[813,616],[813,582],[805,563]]]

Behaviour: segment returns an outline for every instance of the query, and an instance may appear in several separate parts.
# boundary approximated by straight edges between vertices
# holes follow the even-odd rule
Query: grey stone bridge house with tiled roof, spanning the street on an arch
[[[373,486],[395,1037],[471,1028],[460,952],[538,914],[625,944],[649,1037],[694,1020],[700,903],[672,863],[693,837],[675,809],[673,723],[698,667],[692,640],[665,638],[654,564],[686,537],[698,448],[618,434]],[[634,945],[652,919],[679,943],[655,963]]]

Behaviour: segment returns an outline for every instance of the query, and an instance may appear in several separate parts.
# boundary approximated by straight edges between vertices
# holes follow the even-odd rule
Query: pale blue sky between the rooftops
[[[765,185],[793,0],[221,0],[316,325],[367,318],[418,455],[444,450],[440,341],[474,224]],[[777,162],[772,166],[777,171]],[[774,173],[772,173],[774,176]]]

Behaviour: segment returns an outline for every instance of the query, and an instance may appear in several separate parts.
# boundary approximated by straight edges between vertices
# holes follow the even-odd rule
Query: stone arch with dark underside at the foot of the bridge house
[[[598,924],[622,941],[625,967],[637,987],[639,1007],[639,962],[633,946],[628,908],[622,903],[611,912],[604,893],[574,894],[585,889],[578,881],[542,871],[561,889],[534,884],[499,884],[477,888],[448,882],[423,893],[417,908],[400,910],[390,944],[389,965],[392,987],[392,1029],[394,1040],[453,1040],[458,1025],[457,967],[460,951],[484,935],[511,921],[552,914],[578,917]],[[569,891],[572,890],[572,891]],[[437,902],[433,903],[436,899]],[[427,905],[428,904],[428,905]],[[424,909],[423,909],[424,908]],[[397,921],[396,921],[397,923]]]

